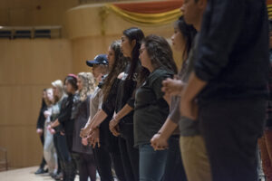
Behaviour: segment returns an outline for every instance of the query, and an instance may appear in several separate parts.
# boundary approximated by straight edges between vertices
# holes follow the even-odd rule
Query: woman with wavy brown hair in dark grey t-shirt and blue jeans
[[[153,34],[142,41],[140,59],[141,65],[150,71],[148,76],[142,77],[135,99],[134,140],[140,152],[140,180],[160,181],[168,150],[154,150],[150,140],[169,115],[170,95],[161,91],[162,81],[172,78],[177,66],[169,43]]]

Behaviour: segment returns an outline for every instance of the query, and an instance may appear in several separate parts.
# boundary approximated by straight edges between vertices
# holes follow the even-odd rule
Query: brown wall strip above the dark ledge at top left
[[[1,26],[62,25],[66,10],[79,5],[79,0],[0,0]]]

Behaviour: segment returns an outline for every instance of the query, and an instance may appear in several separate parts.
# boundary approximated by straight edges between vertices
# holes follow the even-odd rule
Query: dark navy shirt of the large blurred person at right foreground
[[[199,104],[267,96],[268,19],[265,0],[211,0],[199,34],[195,73],[208,85]]]

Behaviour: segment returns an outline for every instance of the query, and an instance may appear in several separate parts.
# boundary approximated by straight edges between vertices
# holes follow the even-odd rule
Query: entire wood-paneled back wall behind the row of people
[[[19,3],[15,5],[16,2]],[[20,8],[24,9],[22,2],[23,0],[0,1],[0,24],[5,23],[5,12],[3,13],[1,8],[11,5],[7,9],[15,9],[17,12]],[[25,2],[33,7],[37,3],[35,0]],[[67,36],[65,39],[55,40],[0,39],[0,147],[8,149],[10,167],[35,166],[41,161],[43,150],[35,133],[35,126],[41,106],[42,90],[50,87],[50,83],[56,79],[63,80],[67,73],[90,71],[85,60],[92,59],[99,53],[107,53],[110,43],[120,39],[124,29],[137,26],[110,13],[104,22],[105,34],[102,35],[102,22],[99,16],[102,5],[81,5],[66,13],[62,7],[60,12],[52,14],[64,2],[68,2],[64,5],[68,7],[77,1],[38,2],[48,11],[44,10],[44,14],[36,16],[39,13],[33,10],[34,14],[27,13],[29,14],[27,17],[23,15],[25,13],[23,10],[21,13],[24,17],[20,15],[20,11],[14,12],[17,18],[9,17],[11,19],[6,24],[53,25],[55,22],[61,22],[66,28]],[[12,12],[9,11],[9,14]],[[61,17],[57,17],[58,15]],[[28,17],[32,19],[27,20]],[[168,40],[173,33],[173,24],[141,28],[146,35],[156,33]],[[180,53],[175,52],[174,56],[176,62],[180,64]]]

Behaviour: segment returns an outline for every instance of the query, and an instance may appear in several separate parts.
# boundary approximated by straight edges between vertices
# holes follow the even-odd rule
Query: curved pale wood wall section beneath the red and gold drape
[[[132,26],[140,27],[148,35],[159,34],[170,40],[173,24],[156,27],[144,27],[131,24],[120,16],[107,12],[102,21],[104,5],[80,5],[66,12],[66,28],[73,46],[73,71],[88,71],[86,59],[92,59],[98,53],[107,52],[113,40],[121,38],[124,29]],[[102,30],[104,35],[102,35]],[[175,61],[180,64],[180,52],[174,52]]]

